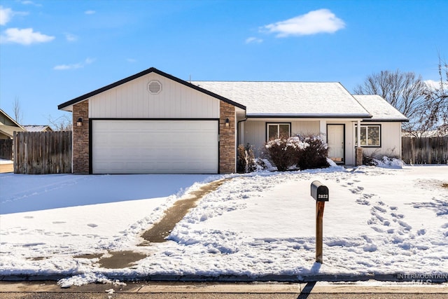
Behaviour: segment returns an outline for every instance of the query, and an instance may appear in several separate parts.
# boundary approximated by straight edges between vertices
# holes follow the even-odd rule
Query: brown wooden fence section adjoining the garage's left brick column
[[[14,173],[71,173],[71,131],[14,132]]]

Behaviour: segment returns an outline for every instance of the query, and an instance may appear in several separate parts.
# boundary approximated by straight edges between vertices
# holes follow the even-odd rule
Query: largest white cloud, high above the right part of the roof
[[[276,37],[302,36],[318,33],[334,33],[343,29],[345,23],[328,9],[310,11],[295,18],[262,27],[262,31],[276,34]]]

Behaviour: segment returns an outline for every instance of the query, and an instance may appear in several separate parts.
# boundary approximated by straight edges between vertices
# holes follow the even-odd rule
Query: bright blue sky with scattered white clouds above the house
[[[437,80],[448,1],[0,1],[0,108],[23,125],[156,67],[188,81]]]

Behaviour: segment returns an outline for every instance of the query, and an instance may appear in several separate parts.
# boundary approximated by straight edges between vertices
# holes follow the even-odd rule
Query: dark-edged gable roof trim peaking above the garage
[[[83,101],[85,101],[86,99],[88,99],[88,98],[90,98],[90,97],[93,97],[94,95],[98,95],[98,94],[101,93],[101,92],[105,92],[106,90],[110,90],[111,88],[115,88],[115,87],[117,87],[117,86],[119,86],[119,85],[122,85],[122,84],[124,84],[124,83],[127,83],[127,82],[129,82],[129,81],[132,81],[132,80],[134,80],[134,79],[137,79],[137,78],[139,78],[139,77],[141,77],[141,76],[145,76],[146,74],[150,74],[150,73],[155,73],[155,74],[158,74],[158,75],[160,75],[160,76],[164,76],[165,78],[169,78],[169,79],[171,79],[172,81],[176,81],[177,83],[181,83],[181,84],[183,84],[183,85],[186,85],[186,86],[189,87],[189,88],[193,88],[193,89],[195,89],[195,90],[197,90],[197,91],[199,91],[199,92],[203,92],[203,93],[205,93],[205,94],[207,94],[207,95],[209,95],[209,96],[211,96],[211,97],[215,97],[216,99],[220,99],[220,100],[223,101],[223,102],[226,102],[226,103],[228,103],[228,104],[232,104],[233,106],[237,106],[237,107],[239,107],[239,108],[241,108],[241,109],[246,110],[246,107],[245,107],[245,106],[243,106],[243,105],[241,105],[241,104],[239,104],[239,103],[237,103],[237,102],[233,102],[232,100],[227,99],[227,98],[223,97],[222,95],[217,95],[217,94],[215,94],[214,92],[210,92],[209,90],[204,90],[203,88],[200,88],[200,87],[198,87],[197,85],[193,85],[193,84],[191,84],[191,83],[188,83],[187,81],[183,81],[183,80],[181,80],[181,79],[179,79],[179,78],[176,78],[176,77],[174,77],[174,76],[172,76],[172,75],[169,75],[169,74],[167,74],[167,73],[164,73],[163,71],[160,71],[160,70],[158,70],[158,69],[155,69],[155,67],[151,67],[151,68],[149,68],[149,69],[146,69],[146,70],[144,70],[144,71],[141,71],[141,72],[138,73],[138,74],[129,76],[129,77],[127,77],[127,78],[124,78],[124,79],[122,79],[122,80],[120,80],[120,81],[117,81],[117,82],[115,82],[115,83],[106,85],[106,86],[104,86],[103,88],[99,88],[99,89],[94,90],[94,91],[92,91],[92,92],[88,92],[88,93],[86,93],[85,95],[81,95],[80,97],[76,97],[75,99],[71,99],[71,100],[68,101],[68,102],[65,102],[65,103],[63,103],[63,104],[58,105],[58,106],[57,106],[57,109],[59,109],[59,110],[65,110],[65,111],[72,111],[72,110],[73,110],[72,107],[73,107],[74,104],[77,104],[77,103],[79,103],[79,102],[83,102]]]

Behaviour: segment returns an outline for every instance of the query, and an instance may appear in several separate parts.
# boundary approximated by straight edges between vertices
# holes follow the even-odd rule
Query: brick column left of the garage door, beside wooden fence
[[[83,125],[76,126],[78,118]],[[73,105],[73,173],[89,173],[89,101]]]

